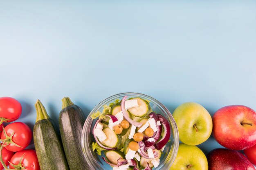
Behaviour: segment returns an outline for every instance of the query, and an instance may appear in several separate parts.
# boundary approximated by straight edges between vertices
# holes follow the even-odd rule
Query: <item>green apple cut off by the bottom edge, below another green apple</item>
[[[208,170],[207,158],[197,146],[180,144],[170,170]]]

